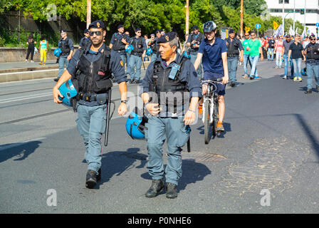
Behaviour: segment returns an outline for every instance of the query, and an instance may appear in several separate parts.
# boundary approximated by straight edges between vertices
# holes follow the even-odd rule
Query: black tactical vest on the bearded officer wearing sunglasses
[[[72,83],[78,93],[106,93],[113,86],[111,76],[110,48],[106,47],[100,58],[94,62],[80,54]]]

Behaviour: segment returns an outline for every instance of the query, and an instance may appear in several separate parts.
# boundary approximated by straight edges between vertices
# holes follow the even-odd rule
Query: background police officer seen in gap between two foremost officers
[[[139,83],[141,77],[141,66],[142,66],[142,58],[145,57],[146,53],[146,42],[145,38],[142,37],[141,28],[136,28],[135,37],[130,38],[130,44],[134,47],[130,56],[130,83]],[[136,67],[136,71],[135,71]]]

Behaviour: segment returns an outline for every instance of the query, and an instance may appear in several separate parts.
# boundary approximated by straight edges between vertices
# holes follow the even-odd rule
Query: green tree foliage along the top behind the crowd
[[[38,21],[45,21],[49,4],[55,4],[58,15],[66,19],[86,21],[86,0],[1,0],[0,13],[9,10],[21,10],[24,16],[32,16]],[[240,30],[241,0],[192,0],[189,8],[189,28],[197,25],[200,30],[204,22],[213,20],[221,26]],[[244,26],[253,29],[261,24],[260,33],[273,28],[273,21],[281,24],[281,17],[271,16],[262,19],[265,11],[264,0],[244,1]],[[108,31],[114,31],[118,24],[125,28],[141,27],[145,33],[153,33],[158,28],[185,32],[185,1],[183,0],[92,0],[92,20],[105,21]],[[286,19],[285,28],[289,30],[291,19]],[[296,27],[302,30],[299,22]]]

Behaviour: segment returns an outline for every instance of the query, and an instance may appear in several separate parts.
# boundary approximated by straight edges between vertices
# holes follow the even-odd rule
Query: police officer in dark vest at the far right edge
[[[305,93],[313,92],[313,76],[315,76],[315,88],[319,93],[319,44],[315,43],[315,35],[309,36],[310,43],[305,46],[303,54],[306,58],[307,68],[307,90]]]

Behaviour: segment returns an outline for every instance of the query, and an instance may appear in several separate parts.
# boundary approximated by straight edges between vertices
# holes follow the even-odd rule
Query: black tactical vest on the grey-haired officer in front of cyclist
[[[150,92],[156,94],[156,96],[154,94],[152,95],[152,93],[150,94],[150,96],[152,97],[152,103],[159,103],[160,105],[166,106],[174,105],[175,109],[176,107],[181,107],[184,104],[184,93],[187,93],[188,90],[186,82],[180,81],[180,74],[183,71],[185,61],[187,61],[187,58],[182,58],[179,63],[177,63],[179,64],[180,68],[174,80],[169,78],[169,73],[171,72],[172,68],[164,69],[162,68],[160,61],[155,61],[152,84],[149,88]],[[179,93],[179,95],[177,95],[176,93]],[[169,99],[171,97],[172,99]],[[166,99],[161,101],[161,99],[163,98]]]

